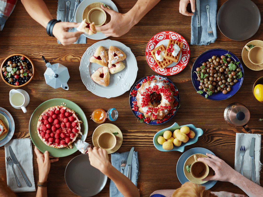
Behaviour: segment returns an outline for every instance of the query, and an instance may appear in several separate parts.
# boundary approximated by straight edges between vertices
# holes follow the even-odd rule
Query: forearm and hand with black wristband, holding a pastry
[[[48,8],[43,0],[21,0],[28,14],[41,24],[44,28],[50,20],[53,19]],[[59,22],[53,27],[53,35],[63,45],[68,45],[76,42],[82,32],[68,32],[70,27],[78,27],[77,23]]]

